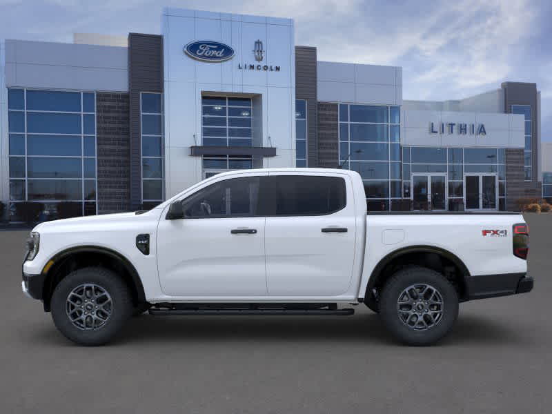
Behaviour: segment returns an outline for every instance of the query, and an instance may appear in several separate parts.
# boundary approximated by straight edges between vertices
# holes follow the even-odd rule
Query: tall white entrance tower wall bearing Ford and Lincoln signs
[[[254,119],[262,146],[275,146],[277,156],[264,158],[264,167],[295,166],[295,41],[293,20],[164,9],[164,101],[166,197],[201,180],[201,157],[190,146],[201,145],[201,94],[247,94],[260,97],[262,119]],[[263,42],[264,60],[255,61],[253,48]],[[220,41],[235,50],[224,62],[202,62],[184,54],[190,41]],[[242,70],[249,63],[279,66],[279,72]],[[255,114],[258,111],[255,110]],[[269,116],[270,115],[270,116]],[[258,131],[261,137],[258,137]]]

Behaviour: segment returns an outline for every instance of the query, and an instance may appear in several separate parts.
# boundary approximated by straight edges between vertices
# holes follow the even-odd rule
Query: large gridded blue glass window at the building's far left
[[[8,90],[10,220],[97,213],[95,93]]]

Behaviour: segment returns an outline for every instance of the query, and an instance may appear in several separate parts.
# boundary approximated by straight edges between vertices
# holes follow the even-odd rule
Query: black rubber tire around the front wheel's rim
[[[75,326],[67,311],[69,294],[83,284],[99,286],[108,293],[112,302],[106,322],[92,330]],[[128,286],[116,273],[103,267],[75,270],[61,279],[52,294],[51,312],[55,326],[72,342],[85,346],[98,346],[109,342],[132,315],[132,309],[132,296]]]

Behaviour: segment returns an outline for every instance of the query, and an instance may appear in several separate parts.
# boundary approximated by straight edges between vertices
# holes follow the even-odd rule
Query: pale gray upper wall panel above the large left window
[[[128,50],[46,41],[6,40],[6,85],[128,91]]]

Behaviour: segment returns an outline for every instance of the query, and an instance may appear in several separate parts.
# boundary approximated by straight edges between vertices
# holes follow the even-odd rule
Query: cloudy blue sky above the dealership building
[[[319,60],[402,66],[403,99],[462,99],[535,82],[552,141],[552,1],[0,0],[0,39],[159,34],[164,6],[289,17]]]

